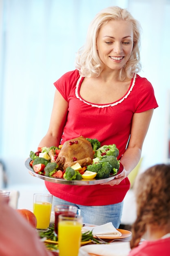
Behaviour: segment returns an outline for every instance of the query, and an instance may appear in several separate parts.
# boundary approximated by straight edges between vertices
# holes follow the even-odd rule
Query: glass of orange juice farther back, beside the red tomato
[[[37,219],[36,229],[48,229],[50,225],[53,195],[33,194],[33,213]]]

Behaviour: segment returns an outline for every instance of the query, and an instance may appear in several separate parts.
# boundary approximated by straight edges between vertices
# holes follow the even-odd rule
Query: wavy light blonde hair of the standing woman
[[[110,20],[125,20],[132,24],[133,28],[133,49],[126,65],[119,70],[119,79],[124,80],[126,77],[132,78],[135,72],[141,70],[140,63],[140,30],[141,26],[135,20],[129,11],[120,7],[108,7],[100,11],[92,20],[88,32],[86,43],[82,46],[75,59],[75,67],[82,76],[91,77],[99,76],[103,70],[103,63],[100,60],[97,49],[96,40],[100,28]]]

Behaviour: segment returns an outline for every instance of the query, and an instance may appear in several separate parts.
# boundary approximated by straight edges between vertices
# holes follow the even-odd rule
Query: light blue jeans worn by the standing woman
[[[78,211],[80,211],[81,216],[83,216],[84,223],[102,225],[112,222],[115,228],[119,228],[123,202],[102,206],[84,206],[81,204],[73,204],[53,196],[53,211],[54,205],[56,204],[69,204],[77,206],[79,209]]]

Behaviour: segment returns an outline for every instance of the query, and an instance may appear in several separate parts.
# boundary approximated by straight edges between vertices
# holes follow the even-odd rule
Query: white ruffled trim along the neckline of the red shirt
[[[97,108],[106,108],[106,107],[109,107],[109,106],[113,107],[113,106],[116,106],[117,104],[121,103],[122,101],[124,101],[124,99],[126,99],[128,97],[128,95],[130,94],[130,92],[132,91],[132,89],[135,85],[136,77],[137,77],[137,74],[135,73],[134,77],[133,77],[132,85],[130,86],[130,89],[128,90],[128,92],[125,94],[125,96],[122,99],[120,99],[119,101],[116,101],[114,103],[109,103],[109,104],[106,104],[106,105],[93,104],[93,103],[87,102],[84,99],[82,99],[81,97],[79,97],[78,89],[79,89],[79,83],[82,79],[82,76],[80,76],[78,81],[77,81],[77,84],[76,84],[76,87],[75,87],[75,96],[80,101],[83,101],[85,104],[91,105],[92,107],[97,107]]]

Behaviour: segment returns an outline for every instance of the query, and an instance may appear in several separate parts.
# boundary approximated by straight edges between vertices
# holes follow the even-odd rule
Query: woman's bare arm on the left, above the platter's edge
[[[68,112],[68,102],[58,90],[55,91],[49,129],[40,141],[39,147],[59,146]]]

